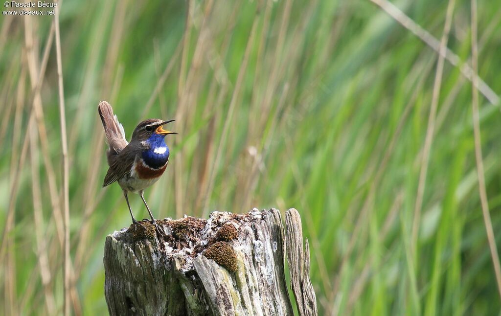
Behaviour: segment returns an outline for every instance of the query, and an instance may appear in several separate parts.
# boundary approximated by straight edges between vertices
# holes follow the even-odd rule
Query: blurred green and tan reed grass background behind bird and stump
[[[448,2],[393,4],[440,41]],[[104,240],[130,224],[119,186],[101,188],[100,100],[112,104],[127,138],[140,120],[176,119],[169,167],[145,194],[158,217],[297,208],[320,314],[498,314],[471,82],[445,61],[423,164],[438,54],[409,30],[415,26],[402,27],[368,0],[67,0],[60,7],[74,314],[107,313]],[[463,0],[453,7],[448,48],[458,65],[470,64],[470,9]],[[53,17],[0,19],[0,304],[4,314],[60,314]],[[478,73],[499,93],[500,29],[499,2],[480,0]],[[499,244],[501,113],[495,93],[479,96]],[[147,217],[140,198],[130,199],[136,217]]]

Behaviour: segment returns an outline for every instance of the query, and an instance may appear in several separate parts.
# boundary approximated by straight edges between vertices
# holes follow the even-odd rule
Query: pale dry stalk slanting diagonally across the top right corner
[[[383,9],[388,15],[390,15],[395,21],[397,21],[404,28],[412,32],[415,36],[417,36],[421,41],[423,41],[426,45],[432,48],[435,52],[440,52],[440,42],[433,37],[428,31],[424,30],[421,26],[415,23],[412,19],[410,19],[405,13],[403,13],[400,9],[398,9],[395,5],[393,5],[388,0],[370,0],[372,3],[378,5],[381,9]],[[459,56],[454,54],[451,50],[446,49],[443,56],[451,65],[458,67],[461,74],[466,77],[469,81],[473,83],[473,71],[471,67],[464,63],[461,63]],[[475,88],[478,89],[482,93],[482,95],[489,100],[491,104],[499,103],[499,96],[480,78],[478,75],[475,75]]]

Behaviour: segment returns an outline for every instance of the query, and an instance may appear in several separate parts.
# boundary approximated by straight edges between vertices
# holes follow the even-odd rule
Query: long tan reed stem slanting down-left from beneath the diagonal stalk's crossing
[[[426,128],[426,136],[424,139],[423,154],[421,155],[421,166],[419,172],[419,180],[416,193],[416,203],[414,205],[414,218],[412,220],[411,231],[411,251],[414,259],[416,259],[417,239],[419,226],[421,222],[421,208],[423,206],[424,188],[426,185],[426,174],[428,173],[428,165],[430,160],[431,144],[435,132],[435,120],[438,108],[438,100],[440,97],[440,88],[442,85],[443,65],[447,42],[449,40],[450,26],[452,24],[452,15],[454,12],[455,0],[449,0],[447,12],[445,15],[445,25],[443,28],[442,39],[440,40],[440,48],[438,51],[437,68],[435,72],[435,81],[433,83],[433,95],[431,97],[430,112],[428,115],[428,126]]]

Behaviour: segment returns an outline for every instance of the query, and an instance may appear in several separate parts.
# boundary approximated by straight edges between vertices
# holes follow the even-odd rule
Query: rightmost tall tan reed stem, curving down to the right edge
[[[497,290],[501,297],[501,264],[497,253],[496,240],[490,220],[489,204],[487,202],[487,191],[485,189],[485,177],[482,158],[482,141],[480,139],[480,118],[478,115],[478,91],[475,89],[478,71],[478,46],[477,46],[477,5],[476,0],[471,0],[471,67],[473,69],[473,80],[471,82],[472,90],[472,116],[473,116],[473,136],[475,140],[475,159],[476,171],[478,176],[478,191],[480,194],[480,203],[482,206],[483,221],[487,240],[489,243],[490,256],[494,265],[494,272],[497,283]]]

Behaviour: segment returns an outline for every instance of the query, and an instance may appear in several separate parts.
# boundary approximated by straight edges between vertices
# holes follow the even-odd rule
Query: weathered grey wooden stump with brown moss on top
[[[106,238],[111,315],[292,315],[285,255],[300,315],[317,315],[301,219],[277,209],[213,212],[132,224]]]

